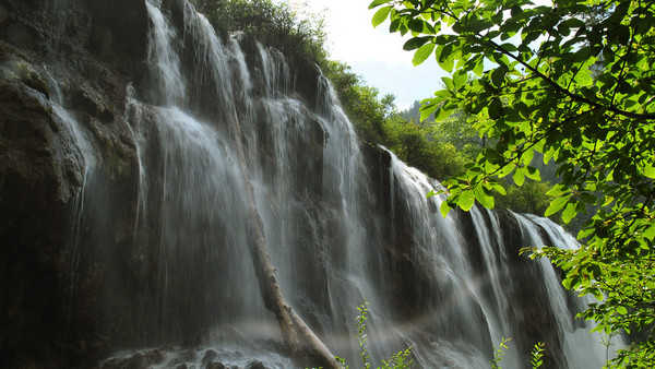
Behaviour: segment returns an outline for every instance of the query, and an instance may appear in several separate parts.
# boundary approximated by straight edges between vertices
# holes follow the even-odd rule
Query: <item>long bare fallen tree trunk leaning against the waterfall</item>
[[[341,368],[341,365],[334,358],[334,355],[332,355],[327,346],[325,346],[307,323],[305,323],[302,318],[294,311],[294,308],[287,303],[282,293],[275,273],[276,270],[273,266],[269,253],[263,222],[255,206],[254,190],[247,175],[248,166],[246,164],[243,143],[241,141],[241,126],[238,120],[235,122],[234,127],[239,168],[243,174],[243,183],[246,186],[245,194],[248,207],[247,231],[250,253],[264,305],[266,309],[271,310],[277,318],[282,336],[288,346],[293,358],[309,358],[312,360],[312,365],[319,365],[323,368]]]

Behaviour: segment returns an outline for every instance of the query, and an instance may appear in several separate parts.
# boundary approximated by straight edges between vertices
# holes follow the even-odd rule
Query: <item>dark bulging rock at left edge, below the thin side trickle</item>
[[[22,349],[47,347],[62,323],[59,273],[68,223],[61,215],[81,168],[44,99],[27,84],[0,81],[0,288],[8,297],[0,299],[0,347],[26,357]],[[0,366],[13,359],[3,355]]]

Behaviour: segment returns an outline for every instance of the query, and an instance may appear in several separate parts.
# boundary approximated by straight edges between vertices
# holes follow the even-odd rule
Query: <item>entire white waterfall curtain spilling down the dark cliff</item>
[[[320,71],[297,81],[281,51],[240,35],[224,41],[186,0],[145,5],[150,83],[129,85],[122,117],[135,157],[127,203],[114,204],[102,170],[114,158],[95,133],[62,107],[58,88],[50,102],[84,166],[72,275],[80,263],[110,265],[98,314],[128,349],[103,365],[174,343],[183,347],[166,348],[154,367],[294,366],[249,251],[249,186],[286,298],[352,365],[364,301],[373,360],[412,345],[425,368],[484,368],[512,337],[507,368],[526,366],[536,341],[552,367],[603,361],[550,264],[516,257],[521,246],[575,245],[561,228],[477,207],[441,217],[443,199],[426,198],[440,184],[361,147]],[[298,83],[313,83],[315,102]],[[376,174],[370,155],[388,158],[389,170]],[[118,214],[116,225],[106,213]],[[120,237],[108,237],[112,227]]]

